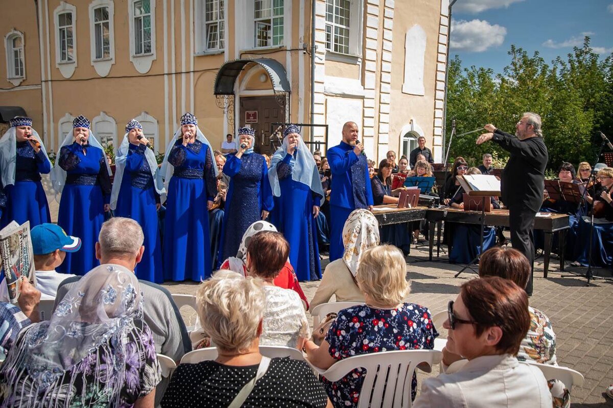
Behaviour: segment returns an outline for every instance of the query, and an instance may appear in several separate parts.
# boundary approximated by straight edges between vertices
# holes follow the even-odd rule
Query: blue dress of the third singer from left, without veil
[[[156,210],[159,195],[155,190],[149,162],[145,158],[145,149],[147,147],[142,144],[129,144],[115,215],[132,218],[140,224],[145,234],[145,253],[134,269],[136,276],[140,280],[163,283],[162,245]]]

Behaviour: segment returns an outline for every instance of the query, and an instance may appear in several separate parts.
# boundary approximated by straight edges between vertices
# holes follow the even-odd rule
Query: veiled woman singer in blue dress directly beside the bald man
[[[277,228],[289,242],[289,263],[299,281],[321,279],[316,218],[324,198],[319,171],[296,125],[283,132],[283,145],[270,160],[268,180],[278,197]],[[278,204],[278,207],[277,207]]]

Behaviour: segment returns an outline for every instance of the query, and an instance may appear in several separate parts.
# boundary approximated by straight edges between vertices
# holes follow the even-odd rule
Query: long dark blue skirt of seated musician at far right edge
[[[588,265],[590,253],[590,219],[579,219],[576,259],[582,266]],[[592,232],[592,266],[607,267],[613,264],[613,223],[594,224]]]

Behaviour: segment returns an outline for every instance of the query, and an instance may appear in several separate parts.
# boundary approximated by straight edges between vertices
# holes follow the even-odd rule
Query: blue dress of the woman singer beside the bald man
[[[286,154],[276,166],[281,188],[281,195],[275,197],[277,228],[289,242],[289,263],[294,267],[298,280],[319,280],[321,264],[313,206],[319,206],[322,197],[311,191],[310,186],[292,179],[291,159],[292,156]]]

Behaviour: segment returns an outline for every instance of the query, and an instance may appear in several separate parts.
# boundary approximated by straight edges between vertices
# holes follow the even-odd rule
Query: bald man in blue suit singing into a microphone
[[[343,140],[327,152],[332,171],[330,193],[330,262],[343,257],[343,226],[355,209],[373,209],[364,146],[357,139],[354,122],[343,125]]]

